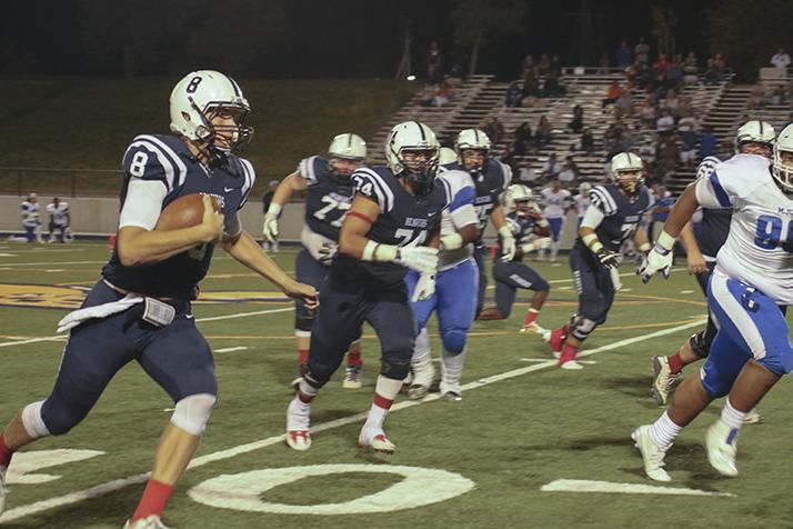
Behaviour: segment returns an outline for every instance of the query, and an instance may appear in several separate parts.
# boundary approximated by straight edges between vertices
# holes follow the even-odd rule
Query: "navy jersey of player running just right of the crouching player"
[[[628,198],[613,183],[595,186],[590,191],[590,207],[594,206],[605,216],[595,228],[595,234],[609,251],[615,252],[619,252],[622,243],[633,236],[642,216],[653,206],[653,197],[645,186],[640,187],[633,198]],[[586,248],[581,237],[576,239],[575,244]]]

